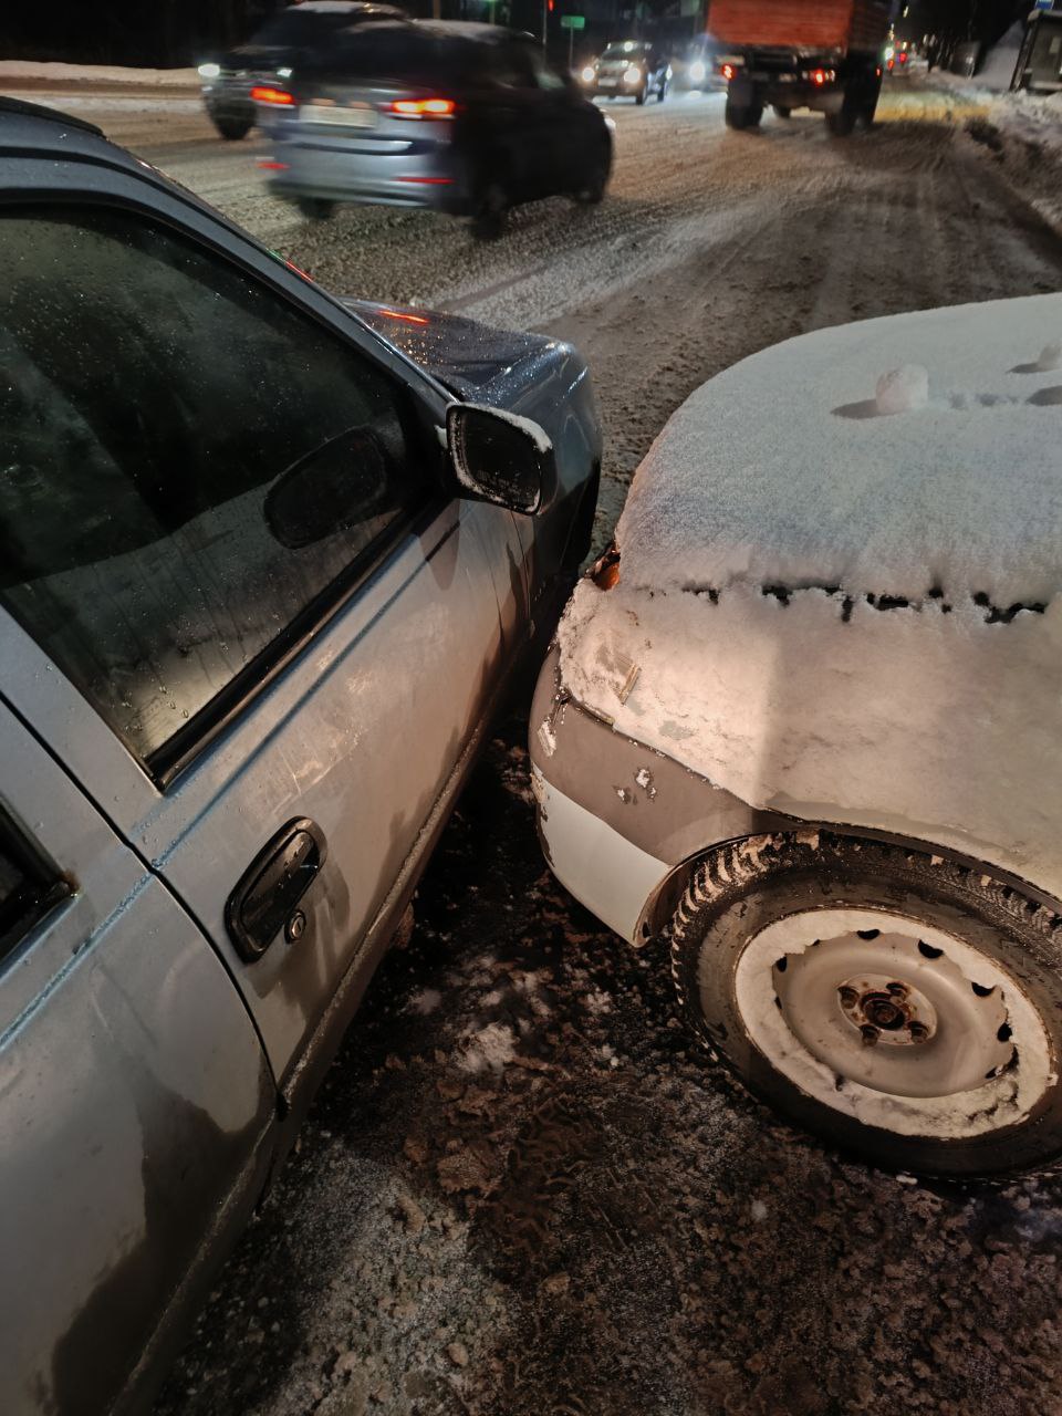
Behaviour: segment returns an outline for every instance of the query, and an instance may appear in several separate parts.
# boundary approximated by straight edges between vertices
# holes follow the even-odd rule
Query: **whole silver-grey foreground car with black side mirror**
[[[0,99],[0,1410],[132,1412],[588,549],[578,354]]]

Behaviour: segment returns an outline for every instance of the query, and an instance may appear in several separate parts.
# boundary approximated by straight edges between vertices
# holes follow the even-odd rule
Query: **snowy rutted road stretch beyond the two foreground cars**
[[[599,541],[657,429],[716,370],[820,326],[1062,279],[1049,228],[967,132],[983,137],[983,106],[910,81],[885,91],[872,135],[840,143],[810,115],[729,133],[721,95],[610,103],[605,204],[537,202],[493,245],[429,212],[303,221],[265,194],[266,143],[219,142],[195,99],[72,102],[336,290],[573,340],[606,425]],[[1035,146],[1020,156],[1020,184],[1056,190]]]

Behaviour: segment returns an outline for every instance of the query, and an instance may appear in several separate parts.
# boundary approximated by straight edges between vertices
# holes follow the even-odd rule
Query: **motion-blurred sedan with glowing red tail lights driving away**
[[[255,93],[269,187],[312,217],[432,207],[493,236],[518,202],[600,201],[612,169],[607,120],[537,41],[498,25],[362,25],[287,89]]]

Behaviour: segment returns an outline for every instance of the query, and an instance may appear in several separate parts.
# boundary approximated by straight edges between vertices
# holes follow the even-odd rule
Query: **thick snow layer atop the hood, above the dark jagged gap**
[[[616,538],[632,586],[1048,602],[1062,582],[1062,295],[818,330],[698,388]],[[892,377],[889,377],[892,375]]]

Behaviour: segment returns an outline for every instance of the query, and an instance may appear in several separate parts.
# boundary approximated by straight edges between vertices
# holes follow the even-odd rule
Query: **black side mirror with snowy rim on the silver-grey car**
[[[460,497],[524,515],[534,515],[552,498],[554,445],[530,418],[483,404],[450,404],[446,452]]]

